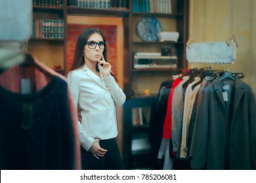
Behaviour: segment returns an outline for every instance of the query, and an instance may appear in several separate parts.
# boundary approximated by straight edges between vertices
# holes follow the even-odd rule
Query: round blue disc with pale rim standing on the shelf
[[[161,24],[154,17],[141,18],[137,22],[137,34],[143,41],[158,41]]]

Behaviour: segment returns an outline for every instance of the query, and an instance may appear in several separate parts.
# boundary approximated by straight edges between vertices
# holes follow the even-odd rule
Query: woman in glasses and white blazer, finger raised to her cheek
[[[115,107],[123,105],[126,97],[106,60],[106,44],[102,31],[85,29],[68,72],[74,103],[81,112],[77,124],[83,169],[124,169],[116,143]]]

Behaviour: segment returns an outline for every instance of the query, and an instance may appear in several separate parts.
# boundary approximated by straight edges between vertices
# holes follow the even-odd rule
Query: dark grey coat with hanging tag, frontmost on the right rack
[[[251,88],[239,78],[216,78],[202,97],[192,168],[255,169],[256,106]]]

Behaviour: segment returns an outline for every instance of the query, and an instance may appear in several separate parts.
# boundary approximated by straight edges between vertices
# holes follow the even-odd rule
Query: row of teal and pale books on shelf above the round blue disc
[[[133,12],[171,14],[171,0],[133,0]]]

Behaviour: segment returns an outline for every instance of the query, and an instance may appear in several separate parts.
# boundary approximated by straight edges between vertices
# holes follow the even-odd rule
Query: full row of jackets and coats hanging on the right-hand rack
[[[250,156],[246,157],[249,160],[244,160],[228,154],[230,151],[226,147],[229,147],[229,144],[232,145],[231,139],[226,139],[223,145],[224,137],[234,137],[237,138],[234,142],[240,141],[238,135],[240,132],[249,139],[246,125],[255,123],[253,92],[244,81],[236,78],[244,78],[244,74],[213,70],[208,66],[184,71],[182,76],[175,76],[175,79],[169,80],[168,85],[166,80],[161,83],[157,105],[152,110],[151,116],[154,118],[150,120],[151,156],[154,168],[236,169],[242,167],[241,169],[253,169],[254,165],[244,163],[251,162]],[[240,93],[242,90],[244,92]],[[246,97],[240,100],[242,95]],[[249,108],[242,110],[243,105],[247,105]],[[242,112],[241,115],[240,112]],[[234,114],[236,114],[235,117],[232,116]],[[247,115],[251,117],[247,118]],[[221,131],[225,131],[223,130],[224,123],[227,124],[226,135],[228,136],[224,135],[217,142],[219,138],[216,137],[223,135]],[[236,129],[237,135],[229,135],[231,127]],[[211,129],[217,130],[213,132],[210,131]],[[156,133],[157,130],[158,133]],[[207,150],[208,136],[205,135],[205,132],[212,136],[211,141],[215,141],[218,147],[222,148],[216,152],[219,161],[224,163],[213,160],[216,148]],[[170,134],[171,137],[166,134]],[[255,141],[255,139],[251,139],[251,141]],[[239,148],[245,152],[255,147],[250,143],[237,142],[236,146],[238,145],[246,146],[246,148]],[[225,157],[223,157],[223,151],[226,152]],[[234,153],[237,152],[239,154],[239,151],[234,151]],[[247,153],[253,154],[252,151]],[[207,159],[208,154],[211,157],[209,159]],[[229,157],[230,159],[228,159]]]

